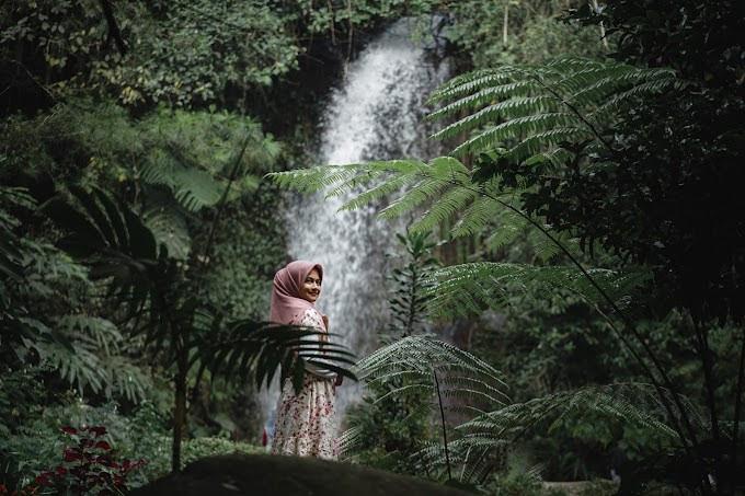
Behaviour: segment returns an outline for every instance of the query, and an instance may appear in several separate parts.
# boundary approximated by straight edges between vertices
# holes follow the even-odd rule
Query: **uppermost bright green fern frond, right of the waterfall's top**
[[[434,138],[471,134],[454,154],[508,147],[509,155],[523,162],[564,141],[598,139],[598,132],[612,126],[614,111],[680,84],[672,70],[582,58],[535,67],[504,65],[462,74],[435,92],[433,101],[444,106],[431,117],[459,117]],[[463,111],[468,113],[461,115]]]

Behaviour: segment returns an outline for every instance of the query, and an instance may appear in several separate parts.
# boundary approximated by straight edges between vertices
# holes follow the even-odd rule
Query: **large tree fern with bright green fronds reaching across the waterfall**
[[[497,282],[500,277],[512,279],[513,276],[519,276],[519,279],[540,275],[546,281],[550,280],[552,284],[580,292],[588,301],[603,301],[623,322],[624,330],[635,345],[620,334],[615,325],[611,326],[657,388],[671,417],[675,417],[672,404],[667,403],[669,399],[662,394],[663,385],[673,389],[671,379],[658,357],[632,325],[628,315],[621,311],[619,304],[621,301],[629,301],[627,296],[619,295],[623,289],[628,289],[627,282],[632,280],[639,282],[646,276],[624,275],[604,287],[596,279],[609,277],[608,272],[587,269],[580,262],[576,252],[573,253],[573,245],[576,245],[574,242],[561,240],[543,219],[526,214],[523,205],[525,196],[520,189],[527,185],[520,184],[518,178],[520,174],[515,171],[532,168],[531,173],[538,173],[538,178],[532,182],[532,187],[536,188],[535,184],[545,178],[540,175],[545,172],[560,170],[560,174],[553,176],[555,180],[566,171],[596,166],[595,157],[612,157],[615,153],[612,139],[617,111],[634,105],[641,95],[674,91],[683,85],[673,71],[639,69],[617,62],[562,58],[537,67],[505,65],[454,78],[432,96],[433,103],[444,105],[433,118],[444,118],[468,111],[465,116],[446,125],[434,137],[451,138],[466,135],[466,140],[457,145],[450,153],[486,154],[490,160],[485,161],[483,168],[477,166],[470,171],[457,159],[447,157],[435,159],[428,164],[409,160],[289,171],[273,175],[273,178],[280,185],[303,191],[336,187],[336,194],[352,191],[352,187],[347,187],[351,185],[356,187],[370,185],[369,188],[377,188],[380,194],[368,195],[360,201],[352,200],[349,205],[358,207],[388,194],[393,196],[392,199],[386,198],[389,208],[400,215],[406,209],[410,211],[414,208],[420,209],[426,204],[428,209],[420,217],[413,230],[426,230],[448,220],[450,226],[456,226],[455,230],[450,230],[450,237],[468,235],[479,231],[489,234],[495,228],[498,229],[494,223],[488,222],[491,210],[486,205],[489,201],[514,212],[515,216],[500,219],[503,222],[514,221],[508,227],[509,233],[526,226],[529,230],[540,232],[540,239],[548,240],[548,243],[537,246],[536,253],[549,259],[561,252],[573,267],[571,269],[547,267],[546,270],[524,273],[516,267],[503,266],[498,268],[501,275],[492,273],[478,280],[470,279],[470,276],[478,274],[462,273],[459,274],[461,278],[450,282],[452,291],[443,286],[445,289],[443,295],[451,296],[465,309],[478,311],[484,308],[484,304],[489,304],[491,299],[498,300],[498,291],[504,288]],[[438,166],[443,164],[447,166]],[[378,183],[370,183],[373,180]],[[396,188],[380,186],[380,182],[390,181],[396,181]],[[417,186],[427,184],[433,188],[435,183],[437,186],[442,185],[442,189],[436,197],[423,201]],[[339,187],[340,184],[344,186]],[[409,189],[398,193],[396,189],[403,184],[408,184]],[[489,201],[478,205],[481,198]],[[498,237],[492,239],[497,243],[500,241]],[[504,239],[509,237],[506,235]],[[528,235],[528,240],[535,241],[536,237]],[[607,292],[608,290],[612,293]],[[637,346],[643,350],[644,356],[639,354]],[[673,395],[672,400],[684,420],[683,428],[678,424],[675,425],[681,442],[696,446],[696,437],[686,417],[684,405],[677,395]]]

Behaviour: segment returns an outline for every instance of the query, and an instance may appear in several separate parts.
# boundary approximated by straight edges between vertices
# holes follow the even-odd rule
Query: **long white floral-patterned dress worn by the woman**
[[[324,328],[321,314],[316,309],[306,310],[299,320],[293,324]],[[272,453],[335,460],[335,374],[310,365],[306,371],[299,394],[295,394],[290,380],[283,385]]]

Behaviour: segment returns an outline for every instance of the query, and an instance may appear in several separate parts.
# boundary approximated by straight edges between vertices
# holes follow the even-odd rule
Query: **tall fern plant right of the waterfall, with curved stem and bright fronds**
[[[412,226],[414,231],[456,219],[451,237],[525,228],[540,233],[571,265],[455,267],[443,269],[444,277],[439,280],[444,287],[458,287],[462,281],[456,278],[454,284],[447,272],[465,270],[466,285],[471,291],[478,288],[477,295],[483,295],[485,290],[489,297],[493,296],[495,288],[501,286],[500,278],[509,277],[513,284],[522,280],[557,284],[586,299],[607,316],[616,337],[655,388],[680,449],[696,460],[699,471],[696,485],[710,492],[712,487],[706,473],[712,463],[721,463],[723,459],[718,457],[720,462],[717,462],[703,451],[700,436],[709,436],[711,425],[694,423],[665,364],[642,337],[632,315],[623,311],[631,297],[627,291],[629,286],[639,286],[649,280],[649,276],[588,269],[581,263],[581,252],[592,255],[599,249],[598,244],[615,253],[622,254],[622,249],[619,250],[611,239],[583,230],[584,224],[560,222],[562,218],[551,210],[552,195],[562,191],[563,177],[592,176],[596,171],[623,163],[624,157],[616,148],[616,142],[622,138],[616,136],[614,126],[623,122],[629,107],[638,105],[642,97],[654,99],[684,88],[685,83],[668,69],[639,69],[576,58],[538,67],[507,65],[481,70],[454,78],[433,96],[433,101],[444,103],[433,118],[460,115],[455,123],[436,132],[435,138],[450,139],[466,134],[466,140],[452,150],[452,154],[475,155],[472,169],[454,157],[443,157],[428,164],[396,160],[321,166],[272,176],[278,184],[302,191],[333,186],[331,195],[351,186],[367,186],[343,208],[356,208],[398,195],[382,208],[382,218],[428,204],[429,208]],[[404,186],[408,188],[400,193]],[[582,198],[582,192],[572,194]],[[501,224],[496,224],[495,219]],[[608,222],[612,220],[608,219]],[[574,235],[578,239],[573,240]],[[638,240],[627,235],[624,241]],[[736,250],[736,246],[731,247]],[[434,288],[433,293],[437,293],[438,286]],[[471,295],[462,297],[463,292],[458,290],[451,293],[473,303],[472,309],[479,308],[477,303],[492,300],[477,297],[479,301],[474,302]],[[720,466],[719,473],[722,468],[717,466]]]

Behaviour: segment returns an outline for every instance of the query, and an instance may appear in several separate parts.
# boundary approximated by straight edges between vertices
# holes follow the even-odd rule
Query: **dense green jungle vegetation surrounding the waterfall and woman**
[[[452,68],[442,157],[316,166],[319,102],[404,16]],[[745,491],[743,32],[732,0],[4,1],[0,494],[264,451],[308,334],[264,322],[291,188],[416,218],[380,348],[331,349],[347,461]]]

